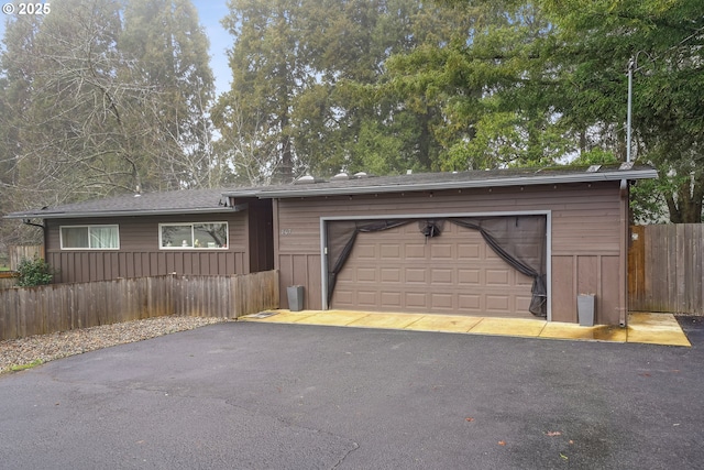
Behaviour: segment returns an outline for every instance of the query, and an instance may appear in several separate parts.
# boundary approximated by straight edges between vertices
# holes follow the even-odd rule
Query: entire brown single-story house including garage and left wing
[[[59,282],[276,269],[280,306],[627,321],[632,164],[310,176],[15,212],[42,219]]]

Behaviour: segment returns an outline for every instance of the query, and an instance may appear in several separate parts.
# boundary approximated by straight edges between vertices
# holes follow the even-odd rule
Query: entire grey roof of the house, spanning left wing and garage
[[[528,186],[559,183],[634,181],[657,178],[646,165],[556,166],[549,168],[505,168],[453,173],[418,173],[400,176],[338,175],[330,181],[299,178],[294,184],[232,189],[182,189],[167,193],[124,195],[65,206],[48,207],[6,216],[10,219],[61,219],[81,217],[148,216],[168,214],[215,214],[241,210],[229,198],[292,198],[355,194]]]

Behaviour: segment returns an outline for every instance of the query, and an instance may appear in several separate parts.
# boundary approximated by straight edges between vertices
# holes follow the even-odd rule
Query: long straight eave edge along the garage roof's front
[[[409,183],[409,184],[392,184],[378,186],[344,186],[344,187],[310,187],[296,190],[260,190],[256,193],[248,192],[246,196],[256,196],[261,199],[275,198],[295,198],[295,197],[315,197],[315,196],[346,196],[355,194],[384,194],[384,193],[410,193],[424,190],[442,190],[442,189],[470,189],[481,187],[502,187],[502,186],[535,186],[564,183],[591,183],[603,181],[635,181],[657,178],[656,170],[634,170],[634,171],[614,171],[608,173],[579,173],[568,175],[544,175],[544,176],[518,176],[510,178],[490,178],[473,179],[461,182],[437,182],[437,183]],[[243,197],[244,194],[237,192],[224,193],[224,196]]]

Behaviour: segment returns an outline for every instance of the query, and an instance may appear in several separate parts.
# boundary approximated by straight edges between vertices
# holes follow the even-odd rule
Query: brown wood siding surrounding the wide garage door
[[[576,321],[578,289],[593,286],[597,320],[617,324],[610,310],[620,305],[620,209],[618,182],[278,199],[274,244],[282,305],[285,286],[296,283],[306,286],[306,308],[322,308],[320,282],[311,284],[320,278],[320,217],[550,210],[553,320]]]

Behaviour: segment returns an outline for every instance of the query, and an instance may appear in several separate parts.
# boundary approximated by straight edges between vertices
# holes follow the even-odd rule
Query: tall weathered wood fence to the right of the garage
[[[630,310],[704,314],[704,225],[631,227]]]

